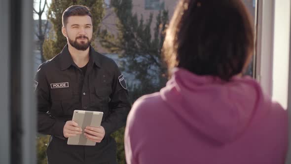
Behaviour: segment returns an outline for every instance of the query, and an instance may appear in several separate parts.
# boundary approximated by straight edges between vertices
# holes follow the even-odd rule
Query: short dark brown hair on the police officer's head
[[[72,5],[68,7],[63,13],[63,16],[62,16],[63,26],[65,27],[67,25],[68,18],[70,16],[85,16],[85,15],[90,16],[93,23],[92,14],[90,13],[90,9],[87,6]]]

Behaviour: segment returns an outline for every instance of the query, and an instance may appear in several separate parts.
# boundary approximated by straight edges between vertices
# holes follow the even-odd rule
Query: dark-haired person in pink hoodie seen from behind
[[[241,0],[180,0],[162,48],[176,70],[133,105],[127,163],[283,164],[287,112],[242,76],[254,45]]]

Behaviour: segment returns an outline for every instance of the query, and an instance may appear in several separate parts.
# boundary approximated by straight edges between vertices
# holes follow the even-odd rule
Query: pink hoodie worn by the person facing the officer
[[[284,164],[287,111],[255,80],[222,82],[175,69],[138,99],[125,130],[127,164]]]

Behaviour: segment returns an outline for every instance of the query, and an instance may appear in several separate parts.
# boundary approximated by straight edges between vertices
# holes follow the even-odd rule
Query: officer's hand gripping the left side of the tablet
[[[63,129],[64,137],[74,137],[77,134],[82,134],[82,129],[74,121],[67,121]]]

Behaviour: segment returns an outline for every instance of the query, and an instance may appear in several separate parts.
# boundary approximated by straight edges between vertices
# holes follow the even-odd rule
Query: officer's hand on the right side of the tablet
[[[84,131],[85,131],[84,135],[86,136],[86,138],[93,142],[100,143],[105,136],[105,129],[103,126],[100,127],[86,126]]]

